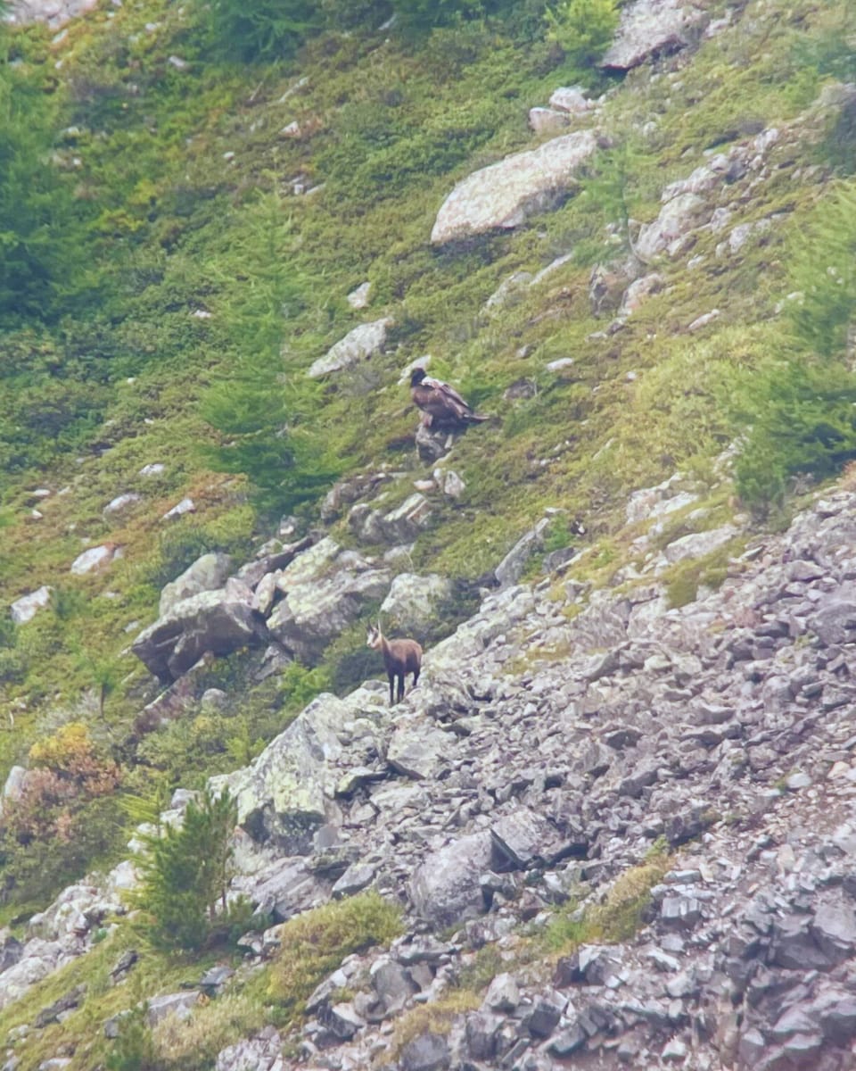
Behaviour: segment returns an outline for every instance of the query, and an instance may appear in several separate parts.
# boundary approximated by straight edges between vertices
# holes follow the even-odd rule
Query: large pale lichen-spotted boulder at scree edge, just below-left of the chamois
[[[318,827],[336,817],[339,734],[353,716],[335,695],[319,695],[250,766],[210,784],[236,797],[238,820],[256,840],[273,839],[287,855],[305,855]]]

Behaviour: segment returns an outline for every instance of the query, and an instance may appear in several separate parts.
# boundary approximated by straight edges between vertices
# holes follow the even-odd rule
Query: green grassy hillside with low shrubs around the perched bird
[[[631,557],[633,489],[679,469],[714,488],[710,524],[744,504],[763,516],[793,473],[834,474],[856,453],[853,124],[816,108],[853,77],[847,6],[709,3],[713,18],[731,9],[731,25],[626,76],[601,72],[575,47],[572,20],[562,36],[536,2],[449,12],[433,29],[401,16],[388,27],[380,6],[348,7],[331,29],[330,5],[299,48],[286,34],[253,61],[224,54],[196,3],[103,4],[59,34],[10,30],[5,73],[16,93],[35,94],[39,119],[16,121],[52,153],[55,244],[26,300],[13,278],[3,305],[0,601],[42,585],[55,594],[30,623],[0,623],[0,775],[54,741],[52,757],[33,761],[42,754],[74,782],[80,835],[62,846],[58,797],[26,860],[20,836],[6,836],[5,914],[111,858],[123,796],[200,785],[246,761],[318,689],[348,683],[337,669],[362,644],[355,633],[320,667],[260,687],[233,657],[211,670],[211,684],[241,695],[227,714],[146,737],[134,725],[150,680],[127,647],[154,620],[160,587],[201,553],[248,554],[282,513],[317,523],[337,477],[403,472],[391,506],[412,492],[426,468],[399,375],[415,358],[430,353],[432,372],[493,417],[456,444],[465,492],[438,504],[416,571],[478,577],[560,507],[593,546],[580,573],[608,580]],[[601,148],[575,195],[515,230],[432,246],[454,184],[535,146],[530,107],[575,82],[603,95],[585,120]],[[645,266],[659,290],[613,332],[621,290],[595,306],[593,268],[626,258],[668,183],[771,127],[764,180],[735,180],[730,203],[730,227],[765,229],[724,253],[728,231],[702,229],[691,248]],[[10,159],[32,159],[34,145],[13,144]],[[12,175],[4,195],[29,203],[35,191]],[[509,275],[565,255],[485,312]],[[354,312],[346,297],[365,281],[370,304]],[[804,304],[785,301],[794,291]],[[358,380],[306,378],[351,328],[383,316],[394,320],[386,350]],[[740,503],[714,458],[750,427]],[[154,464],[163,470],[141,472]],[[127,493],[139,499],[105,519]],[[185,497],[195,512],[164,521]],[[350,538],[342,521],[335,534]],[[552,545],[567,538],[559,524]],[[123,557],[70,573],[107,541]],[[68,723],[87,727],[77,751],[61,734]],[[81,754],[100,779],[80,772]]]

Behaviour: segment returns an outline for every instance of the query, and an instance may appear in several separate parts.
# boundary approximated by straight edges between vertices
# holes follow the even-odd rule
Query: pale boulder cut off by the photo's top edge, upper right
[[[637,0],[622,11],[615,41],[600,66],[629,71],[648,57],[674,52],[689,44],[689,34],[704,12],[686,0]]]

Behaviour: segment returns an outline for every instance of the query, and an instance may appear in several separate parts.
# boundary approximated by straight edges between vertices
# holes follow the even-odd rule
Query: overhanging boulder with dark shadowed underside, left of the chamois
[[[253,609],[253,592],[234,578],[216,591],[177,603],[137,636],[132,651],[164,683],[190,668],[207,651],[230,654],[266,636]]]

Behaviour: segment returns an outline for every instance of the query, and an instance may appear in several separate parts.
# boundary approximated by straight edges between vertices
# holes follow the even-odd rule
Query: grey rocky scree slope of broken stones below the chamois
[[[240,802],[235,892],[280,920],[369,886],[406,911],[402,938],[310,998],[301,1065],[852,1067],[854,545],[841,491],[679,609],[654,568],[590,597],[557,577],[509,585],[427,654],[403,704],[382,682],[319,696],[215,779]],[[655,843],[670,869],[637,933],[525,954],[524,932],[596,905]],[[132,881],[129,861],[7,938],[4,1002],[85,951]],[[250,969],[277,939],[242,939]],[[442,1007],[485,946],[505,969],[482,1006],[393,1047],[396,1019]],[[158,998],[153,1021],[165,1000],[192,1014],[198,992]],[[217,1067],[296,1066],[282,1040],[268,1028]]]

